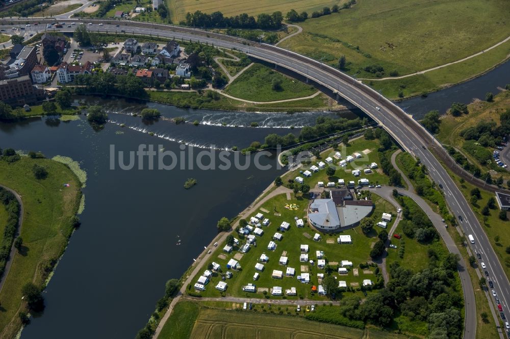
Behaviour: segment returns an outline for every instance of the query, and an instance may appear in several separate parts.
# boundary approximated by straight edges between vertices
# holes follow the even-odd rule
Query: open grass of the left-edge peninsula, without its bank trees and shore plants
[[[32,166],[46,167],[48,177],[34,179]],[[22,196],[24,215],[21,237],[27,250],[16,252],[6,283],[0,293],[2,311],[1,337],[14,337],[20,328],[17,317],[22,306],[21,287],[28,281],[42,286],[53,265],[67,245],[72,227],[70,218],[78,209],[80,182],[65,165],[48,159],[21,160],[8,164],[0,161],[0,183]],[[63,187],[69,183],[70,187]]]

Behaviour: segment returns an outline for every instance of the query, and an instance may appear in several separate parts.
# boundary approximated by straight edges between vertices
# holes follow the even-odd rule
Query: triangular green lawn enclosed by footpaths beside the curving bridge
[[[272,81],[281,81],[281,89],[273,90]],[[307,97],[317,92],[313,86],[285,76],[262,65],[253,64],[224,90],[240,99],[253,101],[276,101]]]

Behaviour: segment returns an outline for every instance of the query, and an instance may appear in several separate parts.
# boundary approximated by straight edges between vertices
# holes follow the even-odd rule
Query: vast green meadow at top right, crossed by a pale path
[[[358,78],[376,78],[375,72],[364,70],[370,65],[384,68],[380,77],[390,77],[392,71],[405,75],[461,60],[504,40],[510,34],[507,12],[504,0],[360,0],[349,10],[298,23],[303,32],[281,47],[324,58],[333,66],[345,55],[345,71]],[[452,31],[452,26],[457,29]],[[419,95],[486,71],[509,52],[507,42],[460,64],[409,78],[373,81],[371,86],[390,98],[397,98],[400,91],[404,96]]]

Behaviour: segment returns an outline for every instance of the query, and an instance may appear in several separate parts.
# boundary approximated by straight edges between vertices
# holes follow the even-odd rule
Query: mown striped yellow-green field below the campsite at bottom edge
[[[296,338],[296,339],[358,339],[358,338],[380,338],[401,339],[408,336],[383,332],[377,329],[367,328],[365,330],[326,324],[304,319],[303,317],[279,315],[278,313],[289,313],[288,309],[295,310],[294,306],[282,305],[281,309],[273,306],[271,309],[262,309],[259,305],[253,310],[241,311],[241,304],[237,304],[238,310],[224,310],[214,308],[200,308],[198,319],[191,333],[190,338]],[[336,306],[317,306],[320,308],[338,308]],[[338,312],[338,310],[337,310]],[[294,312],[292,312],[294,313]],[[304,310],[301,314],[304,314]],[[223,333],[223,336],[222,336]],[[256,336],[256,333],[259,335]]]

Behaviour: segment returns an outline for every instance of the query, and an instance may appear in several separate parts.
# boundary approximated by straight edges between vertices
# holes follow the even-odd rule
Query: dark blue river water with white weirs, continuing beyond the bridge
[[[444,112],[454,101],[469,103],[488,91],[496,93],[497,86],[510,82],[508,74],[510,63],[401,105],[416,118],[431,109]],[[69,156],[80,161],[88,173],[82,227],[71,237],[44,292],[43,316],[32,319],[23,330],[23,339],[133,338],[163,295],[165,281],[179,278],[217,234],[217,220],[237,215],[284,171],[276,168],[274,155],[260,159],[261,164],[270,165],[269,170],[259,170],[250,163],[243,170],[232,166],[203,171],[197,168],[200,151],[212,145],[216,153],[202,157],[202,163],[207,164],[208,159],[219,163],[222,149],[241,149],[253,140],[262,142],[268,133],[298,133],[299,127],[313,125],[318,116],[356,117],[351,112],[258,114],[179,109],[116,98],[81,100],[104,106],[112,122],[100,131],[94,131],[84,117],[60,123],[33,118],[0,124],[3,148],[42,151],[47,157]],[[143,107],[158,108],[164,118],[184,117],[201,125],[143,122],[132,116]],[[252,122],[261,127],[246,127]],[[184,163],[186,168],[148,170],[148,160],[144,159],[140,170],[121,170],[117,162],[111,169],[111,145],[117,160],[118,151],[127,154],[141,144],[154,145],[158,155],[174,152],[183,157],[177,158],[177,168]],[[226,159],[235,161],[234,153]],[[245,160],[239,158],[242,164]],[[185,190],[187,178],[197,179],[198,184]]]

